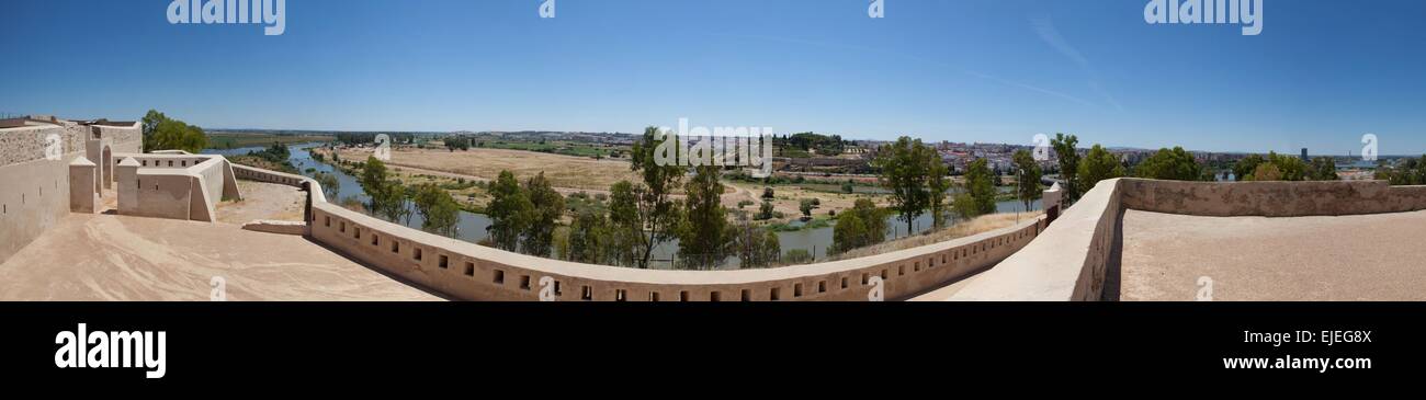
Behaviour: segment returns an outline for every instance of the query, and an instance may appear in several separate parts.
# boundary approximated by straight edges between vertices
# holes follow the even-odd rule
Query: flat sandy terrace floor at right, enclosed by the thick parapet
[[[1124,215],[1122,300],[1426,300],[1426,211],[1298,218]]]

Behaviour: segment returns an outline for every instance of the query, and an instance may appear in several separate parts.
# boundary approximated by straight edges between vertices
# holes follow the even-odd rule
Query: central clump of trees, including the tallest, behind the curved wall
[[[689,168],[655,162],[657,128],[649,127],[630,151],[630,169],[637,181],[619,181],[609,188],[607,204],[572,211],[568,231],[556,231],[566,211],[563,199],[549,186],[543,172],[519,182],[502,171],[491,186],[492,221],[489,245],[538,256],[575,262],[622,265],[647,269],[655,249],[679,241],[676,266],[709,269],[737,256],[743,268],[761,268],[780,259],[773,232],[722,205],[722,167]],[[673,194],[682,189],[684,198]],[[560,249],[556,252],[556,249]]]

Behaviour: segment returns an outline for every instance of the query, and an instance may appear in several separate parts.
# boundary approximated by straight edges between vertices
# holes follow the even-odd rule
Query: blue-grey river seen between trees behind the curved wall
[[[338,189],[338,192],[335,195],[327,194],[327,201],[328,202],[341,204],[345,199],[356,199],[356,201],[365,204],[369,198],[366,196],[366,192],[362,191],[361,184],[356,181],[355,177],[352,177],[352,175],[349,175],[347,172],[342,172],[341,169],[337,169],[337,168],[334,168],[332,165],[329,165],[327,162],[319,162],[319,161],[317,161],[317,159],[312,158],[312,154],[311,154],[309,149],[314,148],[314,147],[319,147],[319,145],[321,144],[315,144],[315,142],[314,144],[289,145],[288,148],[292,152],[292,157],[289,158],[289,162],[292,164],[292,167],[295,167],[298,172],[301,172],[302,175],[307,175],[307,177],[314,177],[314,175],[317,175],[317,172],[327,172],[327,174],[332,174],[334,177],[337,177],[337,181],[341,184],[341,188]],[[250,151],[262,151],[264,148],[265,147],[245,147],[245,148],[231,148],[231,149],[204,149],[202,154],[245,155]],[[308,172],[308,168],[311,168],[312,171]],[[399,168],[399,167],[394,167],[394,168]],[[1040,201],[1035,201],[1035,204],[1032,205],[1032,208],[1038,209],[1040,208]],[[1004,202],[998,202],[995,205],[995,209],[997,209],[997,212],[1018,212],[1018,211],[1024,209],[1024,205],[1020,201],[1004,201]],[[401,222],[396,222],[396,223],[401,223]],[[414,216],[411,216],[411,223],[406,223],[406,226],[411,226],[414,229],[421,229],[421,223],[422,223],[421,215],[414,215]],[[793,223],[799,223],[799,222],[793,222]],[[931,226],[931,216],[930,215],[921,215],[920,218],[915,219],[915,222],[913,225],[914,225],[914,231],[917,233],[925,232]],[[486,233],[488,233],[486,228],[489,228],[489,226],[491,226],[491,218],[489,216],[485,216],[483,214],[473,214],[473,212],[461,211],[461,219],[456,223],[456,235],[455,236],[458,239],[461,239],[461,241],[476,243],[476,242],[481,242],[482,239],[486,238]],[[898,221],[898,219],[896,219],[896,216],[888,216],[887,218],[887,226],[891,229],[890,232],[887,232],[887,239],[907,236],[906,223],[901,222],[901,221]],[[817,228],[817,229],[801,229],[801,231],[796,231],[796,232],[777,232],[777,242],[779,242],[779,245],[781,245],[783,253],[787,253],[791,249],[804,249],[809,253],[811,253],[813,258],[816,258],[816,259],[823,259],[823,258],[827,256],[827,249],[831,246],[831,238],[833,238],[833,229],[831,229],[831,226]],[[673,259],[674,253],[677,253],[677,249],[679,249],[677,241],[672,241],[672,242],[660,245],[653,252],[655,262],[652,263],[652,266],[653,268],[659,268],[659,269],[672,268],[672,259]],[[727,263],[723,268],[724,269],[736,269],[737,265],[739,265],[737,258],[729,258]]]

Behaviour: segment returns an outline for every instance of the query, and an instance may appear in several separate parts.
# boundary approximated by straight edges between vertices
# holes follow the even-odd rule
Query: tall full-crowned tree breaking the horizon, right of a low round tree
[[[921,144],[921,140],[901,137],[893,144],[883,145],[873,161],[873,167],[881,169],[881,185],[891,191],[891,208],[897,211],[898,219],[906,222],[907,232],[914,229],[915,218],[925,214],[931,204],[928,181],[931,175],[931,161],[935,151]]]

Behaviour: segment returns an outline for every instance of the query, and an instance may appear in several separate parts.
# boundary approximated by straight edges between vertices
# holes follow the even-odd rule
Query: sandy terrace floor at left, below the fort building
[[[71,214],[0,265],[0,300],[439,300],[301,236]]]

